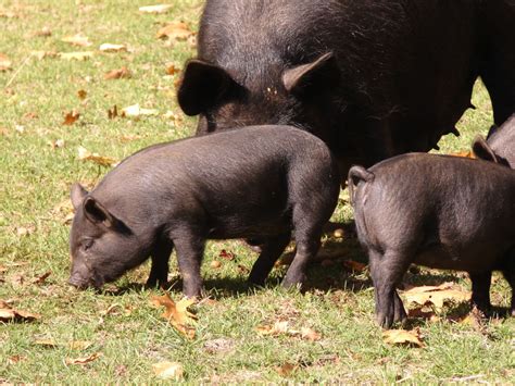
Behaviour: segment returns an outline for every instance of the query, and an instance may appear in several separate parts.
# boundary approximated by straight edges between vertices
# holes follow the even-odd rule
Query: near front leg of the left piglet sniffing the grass
[[[200,263],[204,253],[205,240],[200,236],[186,234],[173,238],[173,242],[183,276],[183,292],[188,298],[200,297],[202,289]]]

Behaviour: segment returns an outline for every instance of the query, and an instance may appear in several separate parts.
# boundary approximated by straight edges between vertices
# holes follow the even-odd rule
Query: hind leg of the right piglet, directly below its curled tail
[[[406,311],[395,288],[410,262],[404,253],[394,251],[381,254],[370,250],[368,259],[375,287],[376,320],[381,327],[389,328],[393,323],[406,319]]]

